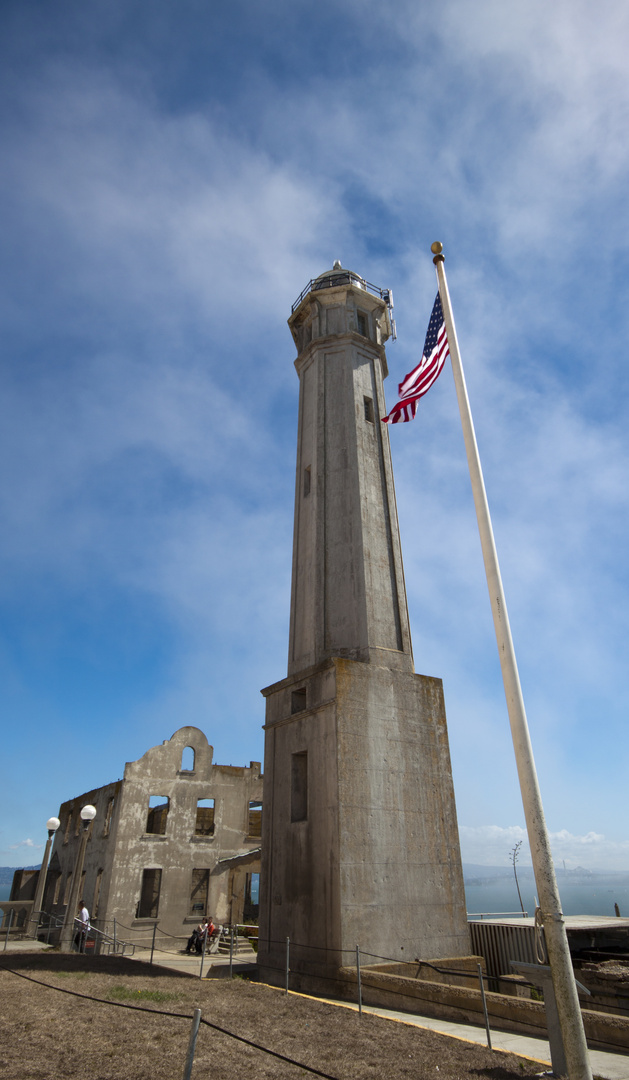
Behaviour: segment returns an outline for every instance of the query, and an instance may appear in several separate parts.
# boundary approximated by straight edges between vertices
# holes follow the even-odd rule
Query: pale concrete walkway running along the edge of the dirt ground
[[[11,942],[6,947],[6,953],[35,953],[43,951],[50,946],[42,942],[19,941]],[[0,955],[2,949],[0,948]],[[253,950],[252,950],[253,954]],[[150,950],[136,949],[135,956],[130,960],[147,962]],[[186,975],[199,975],[201,969],[201,957],[187,956],[185,953],[164,953],[156,949],[153,953],[153,966],[168,968],[170,971],[178,971]],[[233,957],[233,973],[245,974],[255,971],[255,962],[251,956]],[[229,956],[224,954],[213,954],[205,957],[203,966],[203,978],[229,977]],[[278,994],[283,994],[280,987],[270,987]],[[312,1001],[325,1001],[327,1004],[336,1005],[338,1009],[353,1009],[358,1011],[358,1005],[349,1001],[338,1001],[335,998],[316,998],[308,994],[296,994],[290,991],[294,997],[311,998]],[[383,1016],[398,1024],[411,1024],[414,1027],[427,1028],[431,1031],[439,1031],[441,1035],[449,1035],[453,1039],[461,1039],[467,1042],[477,1042],[482,1047],[487,1044],[487,1037],[484,1027],[476,1027],[472,1024],[456,1024],[447,1020],[434,1020],[432,1016],[418,1016],[415,1013],[397,1012],[393,1009],[380,1009],[379,1007],[363,1005],[363,1012]],[[511,1035],[508,1031],[492,1031],[492,1047],[494,1050],[507,1050],[520,1057],[530,1057],[539,1062],[544,1069],[550,1069],[550,1047],[544,1039],[533,1039],[525,1035]],[[610,1054],[602,1050],[590,1050],[590,1063],[594,1077],[603,1077],[604,1080],[629,1080],[629,1055]],[[541,1069],[540,1069],[541,1071]]]

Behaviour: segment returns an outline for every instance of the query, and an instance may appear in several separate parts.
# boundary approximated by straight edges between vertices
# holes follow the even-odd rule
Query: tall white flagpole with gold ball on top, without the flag
[[[577,988],[574,977],[574,970],[570,956],[565,922],[561,910],[561,901],[554,876],[552,855],[550,852],[550,839],[544,808],[541,806],[541,795],[537,782],[535,760],[533,758],[533,747],[528,733],[528,724],[524,711],[522,688],[518,674],[518,664],[507,604],[503,591],[500,568],[494,542],[492,519],[485,492],[479,449],[474,434],[465,376],[460,363],[458,342],[456,340],[456,329],[445,279],[442,255],[443,246],[436,242],[431,246],[434,256],[433,262],[437,268],[437,279],[439,282],[439,295],[443,309],[443,318],[447,332],[447,343],[450,347],[450,357],[452,360],[452,370],[456,387],[456,396],[463,423],[463,434],[467,453],[468,467],[471,478],[471,486],[477,512],[479,532],[481,536],[481,548],[485,564],[487,578],[487,589],[492,604],[492,615],[494,617],[494,629],[496,642],[500,657],[500,667],[503,671],[503,681],[505,684],[505,696],[507,698],[507,710],[511,726],[511,738],[516,752],[516,762],[520,779],[520,791],[524,806],[524,818],[528,842],[531,845],[531,858],[533,860],[533,870],[535,882],[539,895],[541,916],[544,921],[544,932],[548,958],[552,973],[552,986],[557,999],[557,1011],[561,1027],[563,1049],[567,1064],[570,1080],[592,1080],[588,1048],[584,1031],[583,1016],[579,1007]]]

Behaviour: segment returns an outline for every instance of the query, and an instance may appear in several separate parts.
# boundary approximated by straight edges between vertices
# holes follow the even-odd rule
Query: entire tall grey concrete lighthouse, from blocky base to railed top
[[[266,698],[258,964],[307,985],[469,953],[441,680],[416,675],[383,379],[390,297],[335,264],[293,306],[287,677]]]

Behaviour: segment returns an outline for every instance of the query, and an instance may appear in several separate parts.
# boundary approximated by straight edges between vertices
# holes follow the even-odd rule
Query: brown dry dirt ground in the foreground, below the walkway
[[[240,978],[200,982],[122,957],[14,953],[0,957],[0,1077],[180,1080],[196,1008],[192,1080],[313,1076],[203,1020],[337,1080],[516,1080],[539,1071],[512,1054]]]

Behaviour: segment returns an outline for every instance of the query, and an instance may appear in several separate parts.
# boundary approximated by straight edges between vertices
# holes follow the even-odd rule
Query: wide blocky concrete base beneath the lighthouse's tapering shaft
[[[333,658],[267,699],[258,966],[467,956],[441,680]]]

